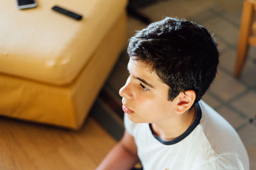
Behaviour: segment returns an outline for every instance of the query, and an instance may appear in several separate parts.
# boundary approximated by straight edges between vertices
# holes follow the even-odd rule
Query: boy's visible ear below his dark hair
[[[175,107],[175,112],[177,114],[182,114],[189,110],[196,99],[196,93],[194,90],[186,90],[185,92],[180,92],[177,96],[177,104]]]

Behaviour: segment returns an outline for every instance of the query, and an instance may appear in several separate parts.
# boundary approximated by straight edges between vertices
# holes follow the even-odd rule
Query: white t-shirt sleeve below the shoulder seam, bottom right
[[[245,167],[241,157],[237,155],[221,155],[202,164],[196,170],[249,170]]]

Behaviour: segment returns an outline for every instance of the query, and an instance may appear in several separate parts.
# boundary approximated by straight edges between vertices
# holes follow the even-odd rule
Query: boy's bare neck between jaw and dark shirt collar
[[[152,131],[164,141],[170,141],[178,138],[186,132],[191,124],[195,121],[197,115],[196,105],[191,110],[186,111],[182,115],[176,115],[162,122],[152,123]]]

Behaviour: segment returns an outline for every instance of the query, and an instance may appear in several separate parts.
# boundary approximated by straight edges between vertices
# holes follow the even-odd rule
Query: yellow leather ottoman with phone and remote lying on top
[[[125,45],[127,1],[0,4],[0,114],[79,129]],[[83,19],[52,11],[56,4]]]

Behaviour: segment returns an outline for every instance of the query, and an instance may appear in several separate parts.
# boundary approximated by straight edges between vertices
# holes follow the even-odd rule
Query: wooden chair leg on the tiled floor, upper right
[[[246,59],[246,52],[248,50],[248,38],[252,29],[253,15],[255,13],[254,4],[246,1],[243,4],[243,13],[241,17],[239,39],[237,44],[237,57],[234,69],[234,76],[238,77]]]

